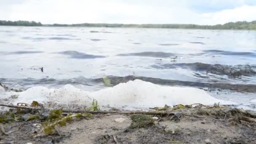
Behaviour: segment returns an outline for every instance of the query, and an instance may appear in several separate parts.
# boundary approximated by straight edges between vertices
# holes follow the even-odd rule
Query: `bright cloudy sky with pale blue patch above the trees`
[[[224,24],[256,20],[256,0],[0,0],[0,20]]]

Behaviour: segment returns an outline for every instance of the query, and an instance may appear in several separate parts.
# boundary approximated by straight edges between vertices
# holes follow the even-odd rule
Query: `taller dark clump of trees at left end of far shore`
[[[0,21],[2,26],[43,26],[40,22],[35,21]]]

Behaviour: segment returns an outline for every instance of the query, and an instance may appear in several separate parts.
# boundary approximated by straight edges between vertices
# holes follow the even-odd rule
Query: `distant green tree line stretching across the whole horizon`
[[[10,26],[45,26],[45,27],[138,27],[166,29],[256,29],[256,21],[237,21],[217,25],[197,24],[41,24],[35,21],[0,21],[0,25]]]

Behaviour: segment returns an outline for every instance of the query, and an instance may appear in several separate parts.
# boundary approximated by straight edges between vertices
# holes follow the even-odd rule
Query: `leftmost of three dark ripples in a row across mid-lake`
[[[69,55],[69,56],[71,56],[72,59],[96,59],[96,58],[104,58],[105,57],[105,56],[80,53],[78,51],[62,51],[62,52],[58,52],[58,53]]]

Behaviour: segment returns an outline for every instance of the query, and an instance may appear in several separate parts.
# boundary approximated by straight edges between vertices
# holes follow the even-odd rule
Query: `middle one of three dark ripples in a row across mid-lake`
[[[146,51],[146,52],[141,52],[141,53],[118,54],[117,56],[146,56],[146,57],[167,58],[167,57],[175,56],[175,54],[165,53],[165,52],[161,52],[161,51],[157,51],[157,52]]]

